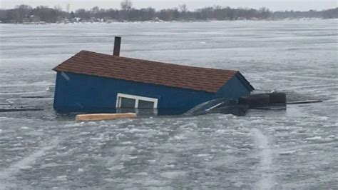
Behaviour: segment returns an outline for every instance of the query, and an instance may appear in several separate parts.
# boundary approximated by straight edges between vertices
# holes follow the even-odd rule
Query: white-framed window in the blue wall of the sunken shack
[[[158,107],[158,99],[118,93],[116,107],[154,109]]]

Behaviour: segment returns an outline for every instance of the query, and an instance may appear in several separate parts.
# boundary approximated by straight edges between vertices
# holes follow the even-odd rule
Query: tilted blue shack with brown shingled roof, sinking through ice
[[[119,108],[188,111],[225,97],[238,99],[253,87],[239,71],[208,69],[80,51],[57,72],[56,111],[114,112]]]

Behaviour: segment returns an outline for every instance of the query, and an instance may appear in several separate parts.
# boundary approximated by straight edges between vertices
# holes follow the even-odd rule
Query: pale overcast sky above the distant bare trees
[[[155,9],[173,8],[178,4],[187,4],[188,9],[193,11],[205,6],[230,6],[232,8],[248,7],[260,8],[267,7],[272,11],[308,11],[309,9],[322,10],[332,9],[337,7],[337,0],[131,0],[133,7],[145,8],[152,6]],[[19,4],[28,4],[30,6],[61,6],[66,9],[67,4],[70,4],[70,9],[91,9],[93,6],[98,6],[103,9],[119,9],[120,0],[0,0],[1,9],[11,9]]]

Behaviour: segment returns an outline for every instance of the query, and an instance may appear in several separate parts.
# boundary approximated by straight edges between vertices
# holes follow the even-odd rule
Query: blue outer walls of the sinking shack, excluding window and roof
[[[54,109],[61,112],[116,111],[118,93],[158,99],[159,114],[181,114],[197,104],[226,97],[237,99],[250,94],[240,79],[233,77],[216,94],[170,86],[110,79],[100,76],[58,72]]]

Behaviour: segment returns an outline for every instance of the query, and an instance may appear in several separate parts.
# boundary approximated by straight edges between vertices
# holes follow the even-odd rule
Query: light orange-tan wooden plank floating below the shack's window
[[[133,119],[136,118],[135,113],[126,114],[78,114],[76,121],[98,121],[98,120],[113,120],[113,119]]]

